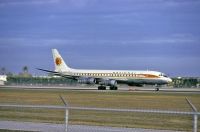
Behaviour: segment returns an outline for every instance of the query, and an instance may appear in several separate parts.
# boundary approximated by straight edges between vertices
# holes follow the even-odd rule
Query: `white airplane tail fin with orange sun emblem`
[[[61,55],[59,54],[57,49],[52,49],[52,54],[53,54],[53,60],[54,60],[56,72],[64,72],[64,71],[70,71],[71,70],[71,68],[69,68],[65,64],[63,58],[61,57]]]

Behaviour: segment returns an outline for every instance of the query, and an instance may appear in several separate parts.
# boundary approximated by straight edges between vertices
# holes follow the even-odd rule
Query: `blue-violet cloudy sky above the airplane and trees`
[[[0,68],[73,68],[200,76],[200,0],[0,0]]]

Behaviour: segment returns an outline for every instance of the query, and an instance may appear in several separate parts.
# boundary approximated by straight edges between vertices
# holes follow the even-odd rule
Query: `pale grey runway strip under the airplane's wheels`
[[[33,89],[33,90],[48,90],[48,89],[62,89],[62,90],[89,90],[89,91],[98,91],[97,90],[98,86],[88,86],[88,85],[77,85],[77,86],[59,86],[59,85],[4,85],[0,86],[0,89]],[[156,87],[151,86],[151,87],[134,87],[134,86],[119,86],[118,91],[142,91],[142,92],[147,92],[147,91],[155,91]],[[160,87],[159,92],[179,92],[179,93],[200,93],[200,88],[174,88],[174,87]],[[106,90],[109,90],[109,87],[107,87]],[[98,91],[99,92],[99,91]]]

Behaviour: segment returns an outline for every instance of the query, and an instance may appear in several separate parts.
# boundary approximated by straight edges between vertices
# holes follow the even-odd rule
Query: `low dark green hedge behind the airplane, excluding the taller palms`
[[[200,78],[172,78],[172,83],[169,84],[172,87],[199,87]],[[8,85],[76,85],[77,81],[63,78],[63,77],[23,77],[23,76],[8,76]]]

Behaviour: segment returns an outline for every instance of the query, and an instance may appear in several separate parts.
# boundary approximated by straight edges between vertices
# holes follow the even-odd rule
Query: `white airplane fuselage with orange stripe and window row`
[[[172,81],[169,77],[157,71],[70,69],[69,71],[63,72],[63,74],[79,77],[113,79],[118,82],[129,84],[167,84]]]

